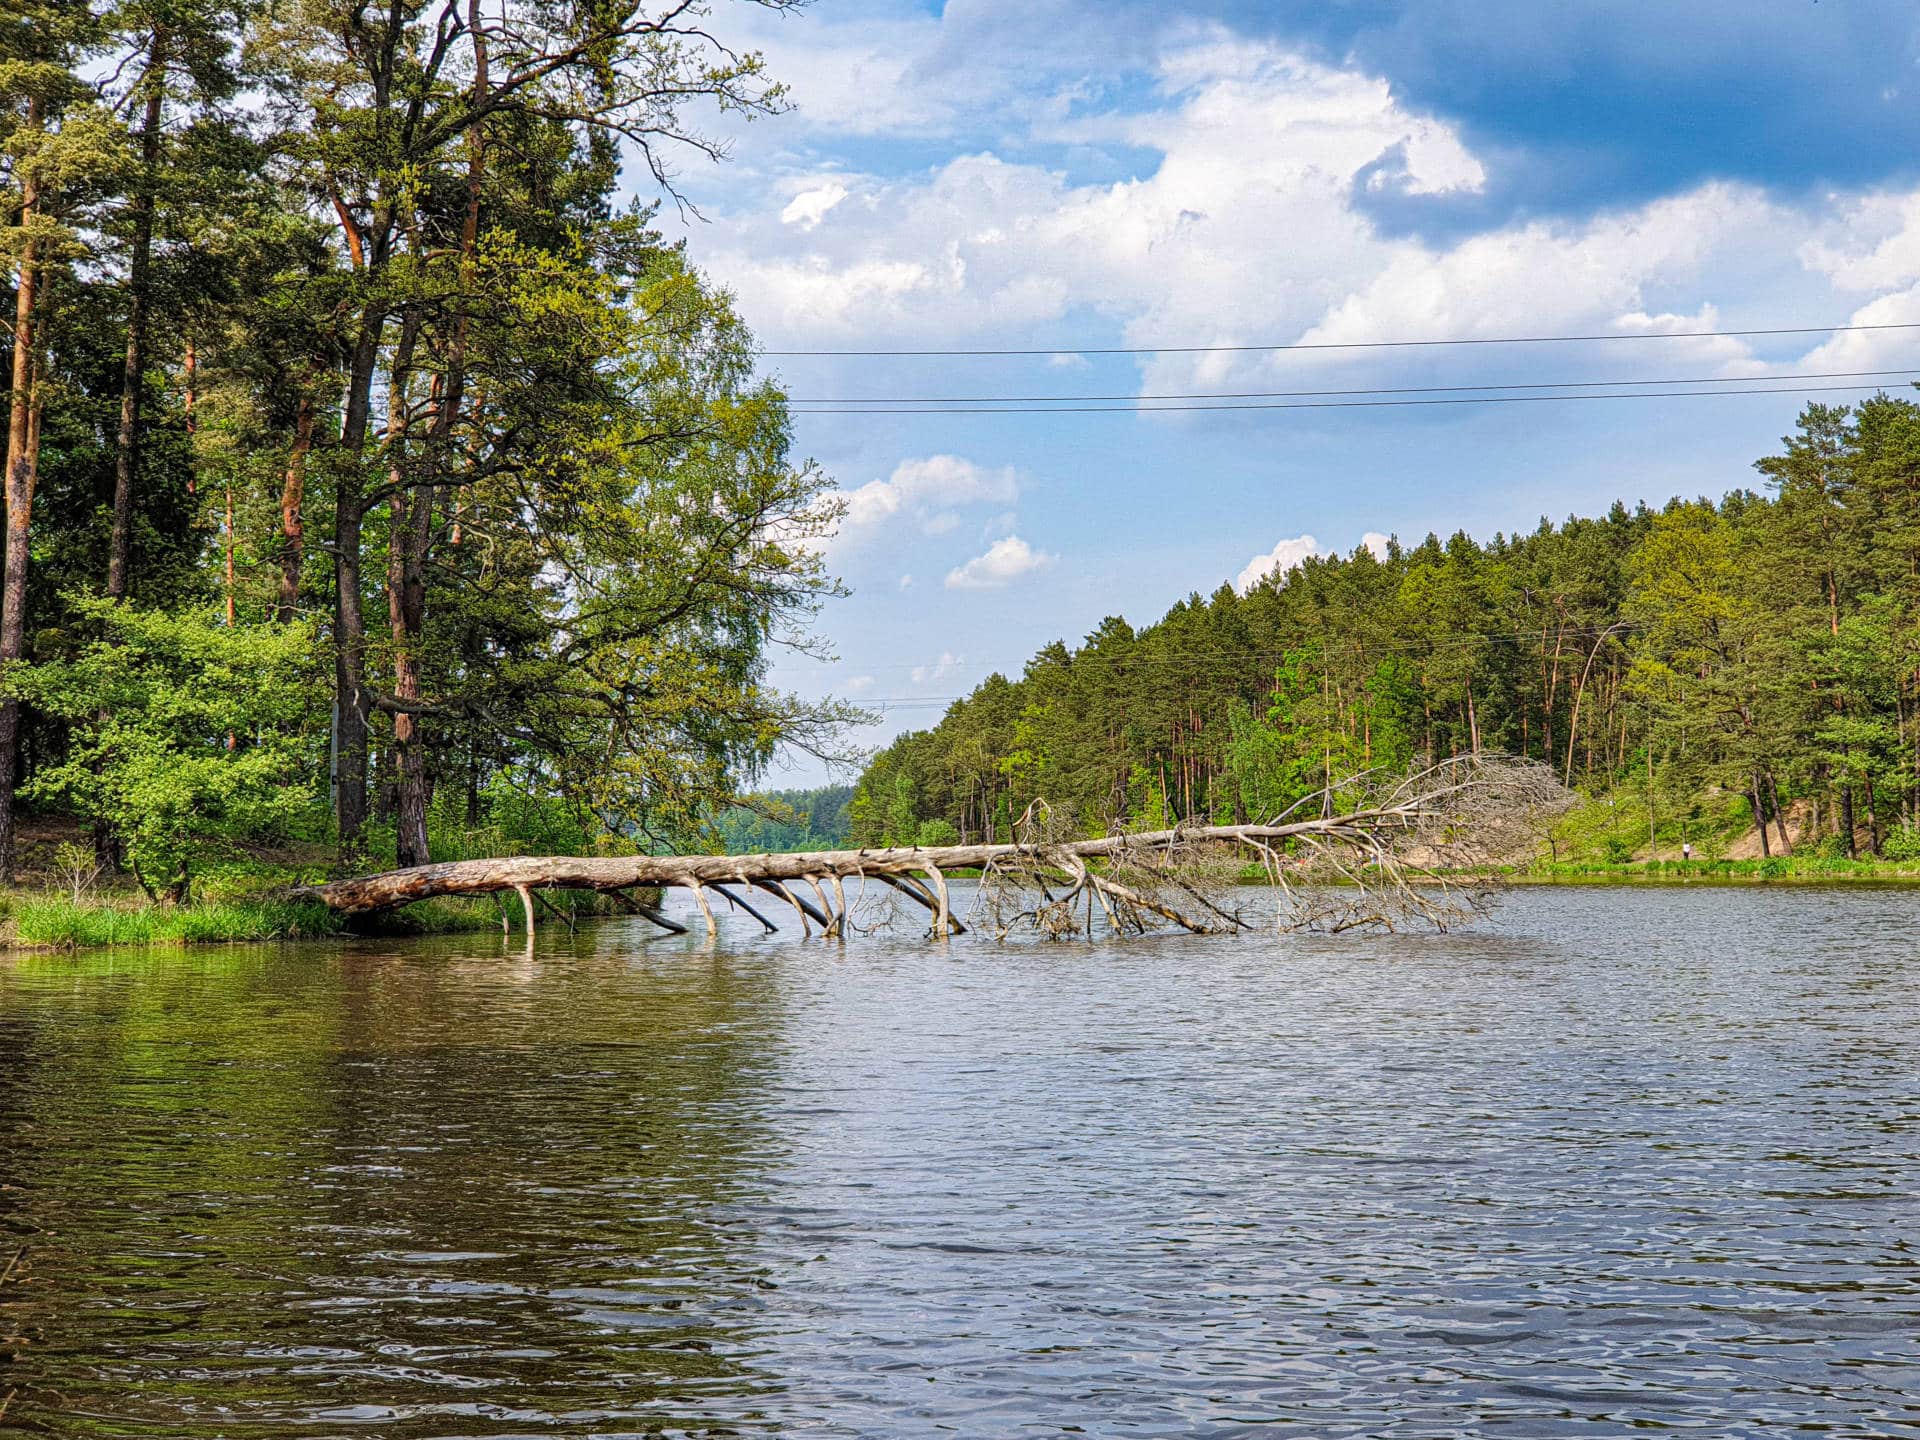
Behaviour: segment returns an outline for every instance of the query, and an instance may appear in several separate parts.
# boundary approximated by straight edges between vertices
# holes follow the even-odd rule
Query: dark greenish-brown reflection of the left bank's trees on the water
[[[611,935],[13,972],[10,1419],[507,1434],[730,1413],[778,1152],[770,972]],[[751,1238],[751,1236],[747,1236]]]

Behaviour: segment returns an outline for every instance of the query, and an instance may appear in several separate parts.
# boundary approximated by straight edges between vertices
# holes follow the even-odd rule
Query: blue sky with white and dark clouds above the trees
[[[847,518],[831,662],[879,745],[1102,616],[1306,553],[1757,484],[1920,330],[1905,0],[716,0],[791,111],[666,213],[799,401],[1711,380],[1709,399],[795,419]],[[1025,357],[781,355],[1033,349]],[[818,409],[818,407],[814,407]],[[785,762],[774,785],[818,783]]]

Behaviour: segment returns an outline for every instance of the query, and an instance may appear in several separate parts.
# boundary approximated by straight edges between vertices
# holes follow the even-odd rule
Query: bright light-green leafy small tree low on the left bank
[[[100,637],[13,676],[15,693],[71,726],[65,756],[29,795],[104,818],[140,883],[173,900],[196,864],[311,816],[309,626],[73,609]]]

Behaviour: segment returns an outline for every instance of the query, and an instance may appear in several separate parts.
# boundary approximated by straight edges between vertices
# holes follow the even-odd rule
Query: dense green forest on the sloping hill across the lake
[[[1041,797],[1092,833],[1258,820],[1329,776],[1505,751],[1611,801],[1622,852],[1732,818],[1763,854],[1912,854],[1920,407],[1809,405],[1757,468],[1718,503],[1356,549],[1102,620],[881,751],[854,839],[1004,839]]]

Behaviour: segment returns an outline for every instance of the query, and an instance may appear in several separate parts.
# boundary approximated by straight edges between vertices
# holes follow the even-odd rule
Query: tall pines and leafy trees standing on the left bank
[[[8,8],[0,877],[19,806],[177,897],[215,841],[417,864],[526,797],[674,847],[831,749],[764,682],[829,482],[620,200],[783,108],[707,10]]]

